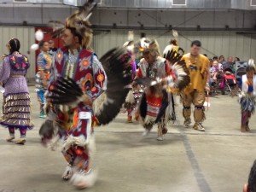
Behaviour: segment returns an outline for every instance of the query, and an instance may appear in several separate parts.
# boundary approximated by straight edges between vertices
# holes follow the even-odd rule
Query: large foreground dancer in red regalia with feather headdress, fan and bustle
[[[127,49],[111,49],[100,61],[91,51],[88,20],[94,7],[93,0],[88,1],[54,32],[55,36],[61,34],[65,47],[55,54],[48,118],[39,131],[42,142],[51,142],[51,148],[58,138],[64,141],[62,153],[68,166],[62,177],[79,189],[96,181],[94,126],[108,124],[119,113],[132,76]]]

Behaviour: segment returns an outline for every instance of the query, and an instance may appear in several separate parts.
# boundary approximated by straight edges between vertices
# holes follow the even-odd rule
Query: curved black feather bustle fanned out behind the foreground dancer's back
[[[106,125],[118,115],[129,92],[125,85],[132,81],[131,54],[124,48],[114,48],[103,55],[100,61],[108,76],[108,99],[96,114],[96,118],[101,125]]]

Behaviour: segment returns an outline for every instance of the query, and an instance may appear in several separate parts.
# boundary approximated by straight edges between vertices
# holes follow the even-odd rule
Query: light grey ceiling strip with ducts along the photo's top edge
[[[81,6],[86,0],[0,0],[0,3]],[[256,0],[96,0],[101,9],[244,9],[256,10]],[[1,5],[0,5],[1,6]]]

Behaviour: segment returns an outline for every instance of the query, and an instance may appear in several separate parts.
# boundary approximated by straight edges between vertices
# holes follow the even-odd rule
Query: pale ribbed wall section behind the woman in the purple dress
[[[35,52],[27,53],[30,46],[35,42],[34,34],[34,27],[0,26],[0,55],[8,54],[6,44],[11,38],[18,38],[20,40],[20,53],[27,55],[31,64],[26,75],[28,79],[34,79],[35,76]]]

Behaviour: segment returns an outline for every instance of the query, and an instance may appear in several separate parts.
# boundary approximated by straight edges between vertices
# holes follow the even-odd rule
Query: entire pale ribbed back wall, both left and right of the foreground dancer
[[[161,50],[168,44],[171,32],[166,31],[146,31],[148,38],[157,38]],[[122,46],[127,40],[127,31],[125,30],[111,30],[110,32],[94,32],[94,40],[92,47],[96,54],[100,57],[109,49]],[[136,38],[139,39],[140,32],[135,32]],[[32,51],[27,54],[30,46],[35,42],[33,27],[10,27],[0,26],[0,54],[7,53],[6,44],[10,38],[20,39],[20,52],[27,55],[31,67],[27,73],[27,78],[34,79],[35,74],[35,52]],[[237,35],[236,32],[180,32],[178,43],[189,51],[191,40],[199,39],[202,43],[202,53],[208,56],[213,55],[229,55],[238,56],[241,60],[248,60],[249,58],[256,59],[256,38],[250,36]]]

